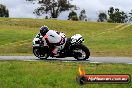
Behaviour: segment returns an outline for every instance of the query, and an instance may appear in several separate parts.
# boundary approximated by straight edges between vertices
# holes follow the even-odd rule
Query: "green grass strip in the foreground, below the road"
[[[132,88],[132,83],[81,86],[75,80],[80,64],[87,74],[132,75],[130,64],[0,61],[0,88]]]

